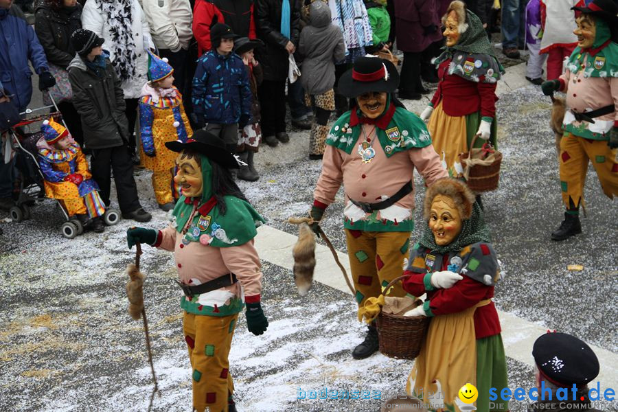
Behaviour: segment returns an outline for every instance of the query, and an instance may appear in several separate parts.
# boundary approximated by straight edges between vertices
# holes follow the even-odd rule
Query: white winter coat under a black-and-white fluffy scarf
[[[110,24],[107,16],[98,7],[98,1],[110,0],[89,0],[84,5],[82,10],[82,27],[92,30],[98,36],[105,39],[103,48],[110,52],[109,59],[112,64],[114,62],[113,47],[110,47],[111,34]],[[111,0],[114,1],[114,0]],[[137,54],[137,62],[135,62],[136,76],[124,80],[122,82],[122,91],[125,99],[137,99],[141,97],[141,88],[148,82],[148,48],[155,49],[155,43],[152,43],[150,38],[150,26],[146,21],[146,16],[141,10],[139,1],[133,0],[131,8],[131,30],[133,32],[133,41],[135,42],[135,54]]]

